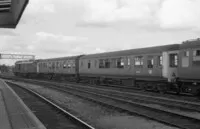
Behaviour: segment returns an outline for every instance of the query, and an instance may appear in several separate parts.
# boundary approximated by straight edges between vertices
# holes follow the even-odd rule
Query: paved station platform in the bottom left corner
[[[46,129],[2,79],[0,79],[0,129]]]

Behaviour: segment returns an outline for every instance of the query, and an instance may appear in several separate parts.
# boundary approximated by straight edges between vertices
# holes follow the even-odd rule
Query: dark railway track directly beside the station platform
[[[28,88],[6,82],[48,129],[95,129],[52,101]]]

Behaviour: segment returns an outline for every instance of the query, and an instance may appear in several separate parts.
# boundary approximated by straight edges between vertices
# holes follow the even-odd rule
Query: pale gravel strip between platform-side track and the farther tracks
[[[97,129],[177,129],[143,117],[118,112],[82,98],[39,85],[19,82],[18,84],[50,98]]]

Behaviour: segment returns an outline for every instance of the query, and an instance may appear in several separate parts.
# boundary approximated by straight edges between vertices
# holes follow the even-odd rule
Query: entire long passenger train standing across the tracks
[[[200,95],[200,39],[139,49],[17,61],[14,74]]]

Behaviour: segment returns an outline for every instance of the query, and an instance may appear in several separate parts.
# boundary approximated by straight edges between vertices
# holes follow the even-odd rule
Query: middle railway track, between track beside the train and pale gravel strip
[[[26,80],[24,80],[26,81]],[[188,111],[196,111],[200,112],[200,101],[190,101],[190,100],[177,100],[172,98],[166,98],[163,96],[151,96],[151,95],[145,95],[138,92],[126,92],[123,91],[123,89],[116,90],[115,87],[112,89],[109,88],[102,88],[101,86],[82,86],[81,84],[76,83],[56,83],[56,82],[45,82],[45,81],[38,81],[38,80],[28,80],[26,82],[34,82],[35,84],[43,84],[43,85],[56,85],[59,87],[72,87],[73,88],[82,88],[85,90],[92,90],[94,92],[103,92],[110,95],[115,95],[118,97],[123,97],[124,99],[129,99],[132,101],[139,101],[139,102],[145,102],[145,103],[151,103],[151,104],[159,104],[162,106],[167,106],[171,108],[179,108],[182,110],[188,110]],[[122,91],[121,91],[122,90]]]

